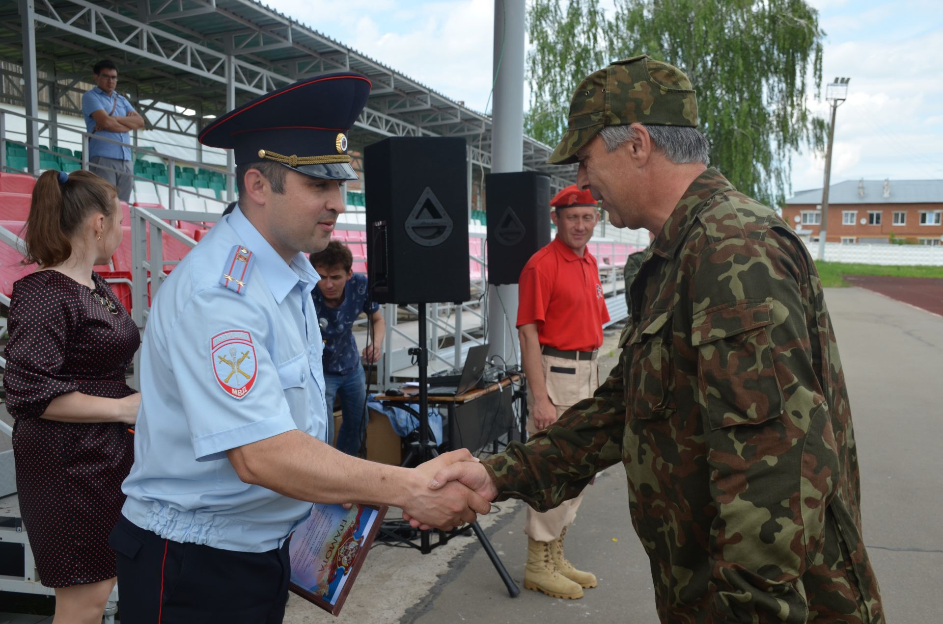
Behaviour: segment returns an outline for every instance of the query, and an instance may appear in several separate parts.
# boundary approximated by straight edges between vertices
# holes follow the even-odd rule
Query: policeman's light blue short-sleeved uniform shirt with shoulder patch
[[[240,292],[219,281],[234,245],[255,257]],[[124,517],[177,542],[264,552],[308,516],[310,502],[243,483],[225,452],[295,429],[325,439],[318,279],[238,207],[167,277],[144,331]]]

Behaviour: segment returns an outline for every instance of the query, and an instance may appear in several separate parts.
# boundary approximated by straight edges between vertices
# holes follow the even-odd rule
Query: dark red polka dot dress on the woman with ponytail
[[[16,486],[47,587],[115,576],[108,533],[134,461],[134,435],[124,423],[40,418],[49,402],[68,392],[112,399],[134,393],[124,371],[141,342],[138,328],[105,280],[97,273],[92,279],[94,291],[58,271],[37,271],[17,281],[10,298],[3,382],[15,419]]]

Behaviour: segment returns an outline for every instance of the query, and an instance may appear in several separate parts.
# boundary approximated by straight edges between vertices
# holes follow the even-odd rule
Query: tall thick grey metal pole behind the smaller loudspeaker
[[[523,171],[524,12],[523,2],[494,2],[492,173]],[[488,356],[501,355],[508,366],[518,363],[517,318],[518,287],[488,286]]]

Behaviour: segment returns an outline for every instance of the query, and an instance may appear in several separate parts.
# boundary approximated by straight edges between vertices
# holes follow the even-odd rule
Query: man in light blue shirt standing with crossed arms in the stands
[[[144,127],[144,118],[115,88],[118,68],[110,60],[95,63],[94,89],[82,95],[82,117],[96,137],[129,143],[128,133]],[[118,199],[131,198],[131,150],[106,140],[89,140],[89,170],[118,189]]]

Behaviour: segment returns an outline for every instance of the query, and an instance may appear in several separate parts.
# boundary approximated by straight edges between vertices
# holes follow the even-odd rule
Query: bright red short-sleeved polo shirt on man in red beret
[[[576,255],[559,238],[524,265],[518,283],[518,327],[535,323],[541,345],[561,351],[603,346],[609,320],[596,258]]]

